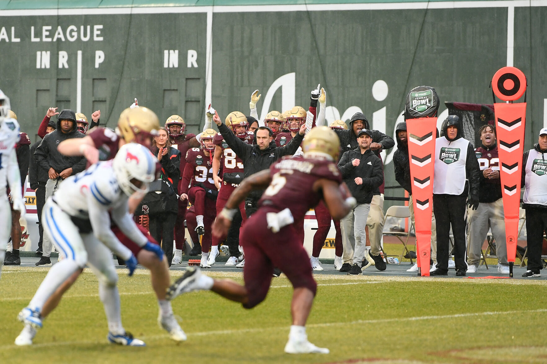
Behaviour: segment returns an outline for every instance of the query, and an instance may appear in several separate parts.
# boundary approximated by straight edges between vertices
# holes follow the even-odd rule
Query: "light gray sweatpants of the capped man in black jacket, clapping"
[[[344,263],[361,266],[365,257],[366,246],[366,219],[368,218],[370,203],[358,204],[347,216],[340,221]]]

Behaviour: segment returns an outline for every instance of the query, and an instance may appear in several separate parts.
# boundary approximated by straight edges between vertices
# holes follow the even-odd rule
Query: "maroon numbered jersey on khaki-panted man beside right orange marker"
[[[480,146],[475,148],[475,156],[481,170],[479,185],[479,202],[494,202],[502,198],[502,183],[499,178],[487,179],[482,171],[487,168],[499,172],[498,146],[494,144],[491,148]]]

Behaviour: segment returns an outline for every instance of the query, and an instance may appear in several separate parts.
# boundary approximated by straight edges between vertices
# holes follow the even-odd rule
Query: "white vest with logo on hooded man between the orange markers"
[[[465,189],[465,161],[469,140],[449,142],[445,137],[435,140],[435,174],[433,193],[461,195]]]

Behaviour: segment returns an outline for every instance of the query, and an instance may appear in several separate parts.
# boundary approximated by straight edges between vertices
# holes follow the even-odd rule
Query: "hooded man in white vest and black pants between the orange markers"
[[[479,207],[479,162],[473,145],[462,137],[457,115],[443,122],[441,137],[435,142],[435,174],[433,177],[433,212],[437,221],[437,269],[431,275],[448,275],[450,226],[454,236],[456,275],[464,276],[465,202]]]

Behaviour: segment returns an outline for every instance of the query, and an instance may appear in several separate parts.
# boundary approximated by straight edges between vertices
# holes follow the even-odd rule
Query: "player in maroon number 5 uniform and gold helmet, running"
[[[328,349],[318,348],[307,340],[305,324],[317,283],[313,280],[306,250],[296,239],[293,221],[301,219],[321,199],[333,218],[341,219],[355,206],[356,200],[342,183],[334,164],[340,142],[333,131],[324,126],[313,128],[307,134],[303,148],[304,157],[284,157],[269,171],[255,173],[243,180],[213,224],[213,234],[225,236],[232,216],[247,193],[267,187],[257,212],[243,226],[242,241],[247,260],[243,268],[245,285],[230,279],[213,279],[201,274],[199,269],[190,269],[170,287],[168,294],[176,296],[212,290],[231,301],[241,302],[245,308],[252,308],[266,297],[274,266],[277,266],[294,287],[292,326],[285,352],[327,354]]]

